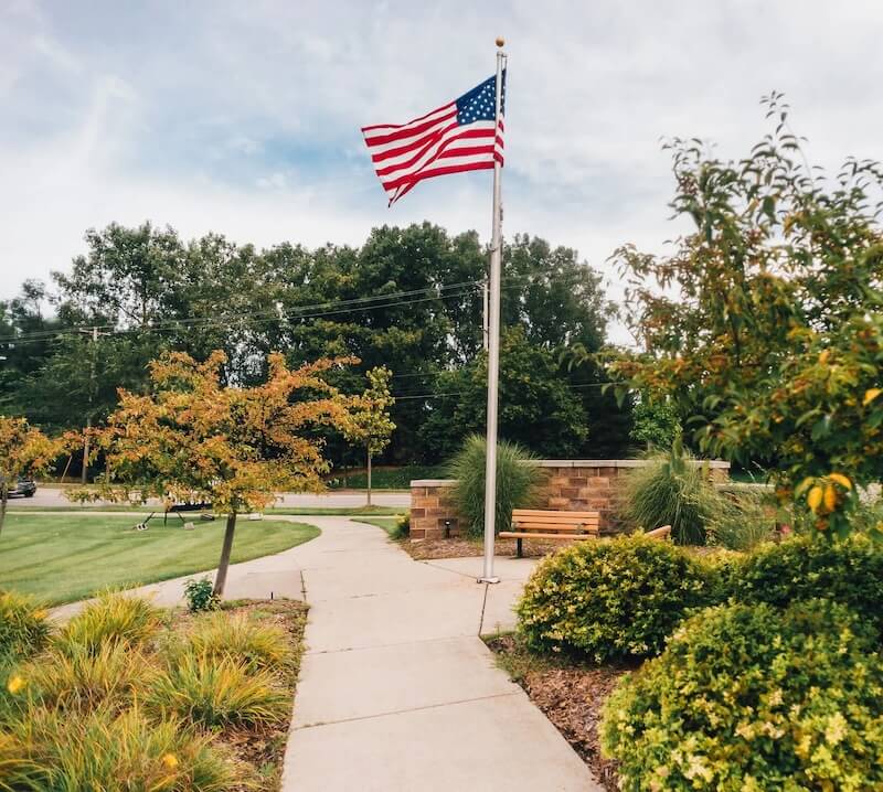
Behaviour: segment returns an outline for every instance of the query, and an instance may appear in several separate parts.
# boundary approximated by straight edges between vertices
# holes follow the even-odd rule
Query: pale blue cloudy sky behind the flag
[[[575,247],[614,299],[617,246],[685,228],[662,140],[743,157],[775,89],[813,164],[883,159],[881,0],[0,0],[0,299],[110,222],[258,246],[423,220],[487,239],[490,172],[387,208],[360,128],[472,88],[498,35],[503,233]]]

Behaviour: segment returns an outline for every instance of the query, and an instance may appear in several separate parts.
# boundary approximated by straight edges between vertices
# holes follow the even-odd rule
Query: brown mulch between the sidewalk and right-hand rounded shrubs
[[[616,763],[600,756],[598,726],[607,696],[619,677],[634,668],[536,657],[513,634],[494,635],[486,642],[499,664],[588,764],[598,783],[608,792],[616,792]]]

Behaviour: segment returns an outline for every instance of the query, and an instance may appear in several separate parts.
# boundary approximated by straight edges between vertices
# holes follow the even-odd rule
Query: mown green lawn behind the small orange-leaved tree
[[[224,521],[183,531],[177,517],[132,531],[134,516],[94,512],[8,514],[0,534],[0,589],[31,593],[47,604],[83,599],[104,588],[128,588],[213,569]],[[280,553],[319,535],[311,525],[241,520],[233,563]]]

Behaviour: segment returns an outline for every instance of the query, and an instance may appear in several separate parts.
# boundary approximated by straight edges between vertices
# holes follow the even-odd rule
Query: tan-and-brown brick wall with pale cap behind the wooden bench
[[[730,477],[730,463],[711,461],[715,480]],[[540,462],[546,472],[540,509],[568,512],[599,512],[602,532],[619,527],[615,512],[621,478],[629,470],[647,464],[640,459],[549,459]],[[451,503],[449,479],[421,479],[411,482],[411,538],[440,538],[448,531],[459,533],[460,516]]]

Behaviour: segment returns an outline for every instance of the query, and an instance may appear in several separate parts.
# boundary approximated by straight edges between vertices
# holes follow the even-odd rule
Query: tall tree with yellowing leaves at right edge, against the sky
[[[672,145],[672,206],[695,231],[670,256],[618,251],[649,351],[615,372],[671,398],[703,451],[775,454],[780,495],[843,536],[854,485],[883,475],[883,169],[848,160],[829,184],[767,105],[775,131],[740,162]]]

